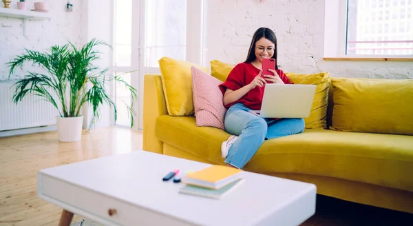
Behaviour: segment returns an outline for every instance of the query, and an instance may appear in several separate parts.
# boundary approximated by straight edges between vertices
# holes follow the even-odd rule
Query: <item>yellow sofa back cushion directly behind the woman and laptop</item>
[[[211,75],[221,81],[225,81],[233,65],[221,61],[211,61]],[[326,114],[328,105],[328,90],[330,88],[330,74],[295,74],[286,73],[286,76],[295,84],[317,85],[310,116],[304,119],[306,129],[326,129]]]

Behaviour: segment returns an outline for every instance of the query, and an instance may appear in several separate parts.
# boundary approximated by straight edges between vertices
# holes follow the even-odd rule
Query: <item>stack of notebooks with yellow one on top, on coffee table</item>
[[[241,172],[242,170],[233,167],[212,165],[182,177],[182,183],[187,185],[179,192],[219,199],[242,183]]]

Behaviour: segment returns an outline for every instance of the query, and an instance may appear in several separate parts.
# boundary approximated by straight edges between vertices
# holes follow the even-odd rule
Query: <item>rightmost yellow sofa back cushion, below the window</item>
[[[332,79],[333,130],[413,135],[413,80]]]

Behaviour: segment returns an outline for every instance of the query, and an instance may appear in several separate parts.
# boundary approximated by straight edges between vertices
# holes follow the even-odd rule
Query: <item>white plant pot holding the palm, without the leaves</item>
[[[59,141],[75,142],[81,141],[83,116],[62,118],[56,116],[57,132],[59,133]]]

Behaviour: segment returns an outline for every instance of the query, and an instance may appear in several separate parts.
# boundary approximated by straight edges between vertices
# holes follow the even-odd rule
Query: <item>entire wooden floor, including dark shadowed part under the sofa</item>
[[[56,132],[0,138],[0,226],[58,225],[62,209],[37,198],[39,170],[141,148],[142,133],[123,127],[83,131],[76,143]],[[413,225],[413,214],[317,196],[317,213],[303,225]]]

